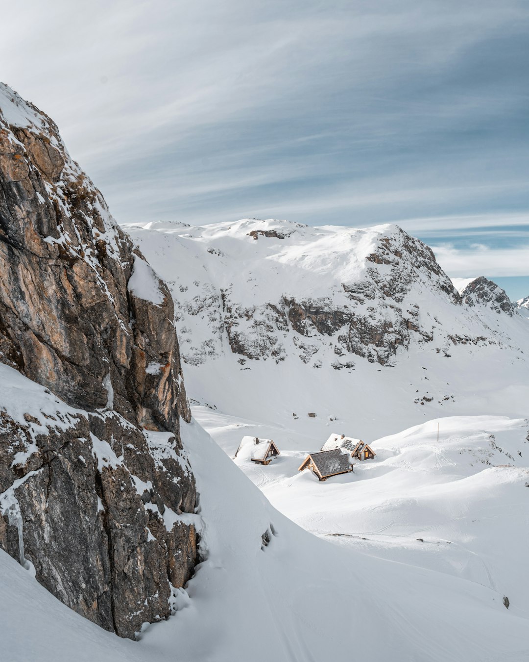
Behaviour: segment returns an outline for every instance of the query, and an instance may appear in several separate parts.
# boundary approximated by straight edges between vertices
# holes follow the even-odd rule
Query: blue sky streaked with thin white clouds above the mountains
[[[118,222],[397,222],[529,295],[526,0],[3,3],[0,79]]]

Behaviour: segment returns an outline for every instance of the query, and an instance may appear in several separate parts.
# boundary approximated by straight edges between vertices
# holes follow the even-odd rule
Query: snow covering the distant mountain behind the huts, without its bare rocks
[[[179,222],[125,227],[171,289],[186,392],[195,401],[238,420],[279,428],[296,413],[300,429],[307,412],[315,412],[308,428],[311,450],[321,448],[329,436],[330,418],[337,418],[333,428],[370,443],[436,416],[495,412],[516,417],[527,410],[528,320],[487,308],[478,314],[477,306],[458,305],[421,270],[401,307],[418,307],[421,326],[431,330],[432,340],[420,342],[421,336],[412,333],[409,347],[397,349],[391,368],[337,354],[340,330],[323,336],[309,328],[307,336],[300,336],[292,328],[272,329],[275,344],[266,345],[271,307],[284,310],[284,297],[311,297],[321,310],[369,316],[369,301],[355,305],[342,283],[371,282],[366,264],[373,263],[366,263],[366,256],[381,238],[401,241],[397,226],[317,228],[244,219],[204,227]],[[254,240],[251,232],[278,237],[257,234]],[[379,273],[390,268],[376,265]],[[442,284],[450,285],[447,277]],[[375,303],[386,305],[384,297]],[[237,331],[250,339],[259,360],[231,351],[227,307],[236,310]],[[390,306],[382,322],[395,322]],[[450,336],[485,340],[454,345]]]

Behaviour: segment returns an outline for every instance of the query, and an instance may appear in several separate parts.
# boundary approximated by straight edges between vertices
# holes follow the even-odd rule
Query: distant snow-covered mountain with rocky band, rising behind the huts
[[[460,294],[397,226],[126,230],[173,293],[196,402],[289,428],[313,413],[316,443],[335,418],[374,439],[435,416],[526,410],[526,320],[486,279]]]

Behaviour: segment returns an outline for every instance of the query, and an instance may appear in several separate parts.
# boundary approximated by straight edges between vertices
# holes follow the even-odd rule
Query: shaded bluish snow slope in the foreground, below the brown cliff
[[[28,383],[26,411],[46,408],[46,394],[40,390]],[[505,427],[514,431],[518,422]],[[345,662],[351,659],[352,645],[358,659],[526,659],[527,614],[517,604],[505,608],[503,578],[491,587],[480,581],[479,573],[447,572],[434,563],[411,565],[383,558],[384,553],[320,540],[274,510],[196,422],[182,422],[182,436],[200,494],[196,517],[203,518],[203,561],[186,589],[177,592],[177,614],[149,626],[138,643],[118,639],[54,600],[30,573],[1,553],[0,622],[6,659],[265,662],[272,655],[285,662]],[[419,431],[408,436],[408,446],[419,443]],[[391,466],[391,459],[398,458],[391,455],[398,442],[385,444],[387,459],[378,472],[371,470],[382,476],[384,463]],[[284,465],[289,461],[287,455]],[[426,471],[429,463],[423,453],[421,469]],[[358,485],[374,483],[380,475],[366,475]],[[296,480],[296,494],[303,496],[304,485],[312,485],[311,476],[305,473]],[[514,475],[503,482],[525,489]],[[331,483],[323,485],[333,489]],[[320,510],[329,508],[333,498],[327,492],[327,505]],[[309,509],[304,508],[305,514]],[[345,510],[338,508],[338,516],[345,516]],[[346,530],[357,531],[358,525]],[[397,533],[409,536],[408,530]],[[432,537],[432,531],[428,535]],[[456,561],[461,559],[454,553]],[[358,614],[362,628],[351,641],[351,620]]]

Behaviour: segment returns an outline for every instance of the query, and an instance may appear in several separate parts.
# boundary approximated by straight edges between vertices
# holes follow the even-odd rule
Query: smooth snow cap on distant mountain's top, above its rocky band
[[[313,297],[327,297],[329,286],[336,289],[337,281],[362,279],[364,258],[373,252],[376,239],[395,233],[396,227],[315,228],[248,218],[204,227],[178,222],[123,226],[133,240],[140,242],[143,254],[156,265],[165,282],[175,281],[177,267],[189,284],[207,278],[218,287],[233,288],[238,301],[254,305],[300,289]],[[291,234],[284,239],[258,235],[252,240],[249,232],[254,230]],[[210,259],[204,267],[206,258]],[[181,268],[183,263],[185,269]]]

